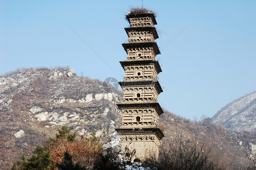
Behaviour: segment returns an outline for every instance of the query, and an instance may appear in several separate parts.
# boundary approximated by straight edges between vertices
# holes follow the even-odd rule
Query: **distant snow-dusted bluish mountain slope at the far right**
[[[256,132],[256,91],[225,105],[212,120],[229,130]]]

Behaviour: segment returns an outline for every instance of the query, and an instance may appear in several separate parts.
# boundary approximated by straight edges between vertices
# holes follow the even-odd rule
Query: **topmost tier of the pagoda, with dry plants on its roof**
[[[132,9],[127,15],[131,27],[141,27],[141,26],[154,26],[157,25],[155,20],[155,14],[144,8]]]

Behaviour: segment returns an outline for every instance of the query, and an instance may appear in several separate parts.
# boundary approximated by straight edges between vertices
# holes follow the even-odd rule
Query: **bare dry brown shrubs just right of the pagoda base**
[[[158,170],[229,170],[204,139],[181,134],[165,140],[159,148],[159,159],[151,155],[146,164]]]

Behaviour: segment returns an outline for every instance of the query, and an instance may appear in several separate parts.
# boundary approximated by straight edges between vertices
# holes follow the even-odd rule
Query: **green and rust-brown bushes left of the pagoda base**
[[[12,170],[114,170],[118,168],[118,154],[111,146],[104,148],[95,132],[90,137],[77,136],[63,126],[47,145],[37,145],[31,156],[20,156]]]

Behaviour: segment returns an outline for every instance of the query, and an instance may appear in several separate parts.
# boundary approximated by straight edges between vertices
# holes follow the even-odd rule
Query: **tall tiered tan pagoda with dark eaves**
[[[158,157],[160,140],[164,137],[158,127],[163,110],[157,101],[163,92],[157,80],[162,70],[155,60],[160,51],[155,42],[159,37],[154,13],[132,11],[126,18],[130,27],[124,29],[129,39],[122,45],[128,60],[120,61],[125,80],[118,82],[123,88],[123,102],[118,104],[123,118],[122,126],[116,130],[121,135],[122,155],[133,152],[130,160],[136,161],[148,154]]]

